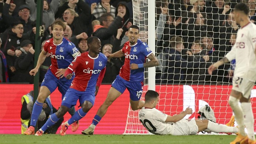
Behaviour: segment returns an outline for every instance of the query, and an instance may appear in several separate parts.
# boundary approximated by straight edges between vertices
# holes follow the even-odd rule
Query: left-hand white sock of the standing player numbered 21
[[[242,108],[239,105],[239,100],[233,96],[229,96],[229,105],[231,106],[236,122],[237,122],[237,127],[239,129],[239,134],[242,136],[246,136],[246,133],[244,131],[244,114],[242,112]]]

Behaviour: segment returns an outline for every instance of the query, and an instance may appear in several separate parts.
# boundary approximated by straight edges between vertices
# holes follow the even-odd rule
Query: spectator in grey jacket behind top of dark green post
[[[52,0],[51,3],[44,0],[43,5],[43,17],[42,22],[45,23],[45,27],[49,27],[55,20],[54,15],[59,7],[60,0]],[[30,19],[32,21],[37,20],[37,7],[34,0],[26,0],[26,5],[30,6]]]

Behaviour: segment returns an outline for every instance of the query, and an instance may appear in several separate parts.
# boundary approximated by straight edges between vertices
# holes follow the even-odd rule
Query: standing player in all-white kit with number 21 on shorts
[[[237,32],[236,43],[232,50],[208,69],[209,74],[223,63],[236,59],[233,86],[229,97],[229,105],[233,109],[239,135],[230,144],[256,144],[254,135],[254,118],[251,105],[251,90],[256,81],[256,25],[250,22],[249,7],[239,3],[234,8],[234,19],[241,26]],[[241,106],[239,104],[241,102]],[[245,133],[244,126],[248,131]]]

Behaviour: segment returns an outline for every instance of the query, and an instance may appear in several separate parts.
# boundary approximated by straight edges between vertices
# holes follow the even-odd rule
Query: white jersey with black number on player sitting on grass
[[[166,135],[174,131],[172,122],[165,122],[167,114],[155,108],[143,107],[139,112],[139,119],[143,126],[155,135]]]

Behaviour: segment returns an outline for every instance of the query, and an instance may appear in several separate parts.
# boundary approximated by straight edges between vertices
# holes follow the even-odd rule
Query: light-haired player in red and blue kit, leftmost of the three
[[[68,80],[64,77],[65,70],[80,53],[75,45],[69,40],[63,38],[63,34],[66,28],[66,24],[61,20],[57,19],[52,24],[52,35],[53,38],[49,39],[44,44],[44,49],[39,55],[37,66],[31,70],[30,75],[35,75],[38,72],[39,67],[45,60],[47,52],[51,57],[52,65],[45,74],[44,80],[41,84],[40,91],[33,106],[33,111],[31,115],[30,127],[24,132],[25,135],[33,135],[35,132],[35,125],[39,114],[42,111],[42,106],[45,99],[58,87],[62,98],[67,92],[72,79]],[[61,98],[61,100],[62,100]],[[75,108],[69,110],[69,113],[73,115],[75,113]],[[73,131],[76,131],[76,127],[73,127]]]

